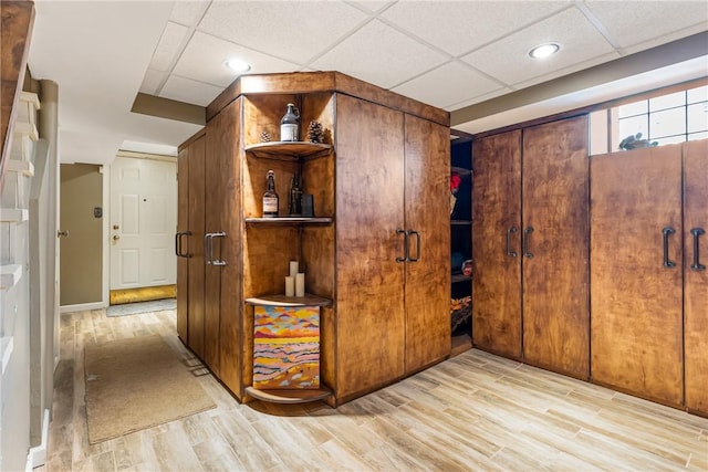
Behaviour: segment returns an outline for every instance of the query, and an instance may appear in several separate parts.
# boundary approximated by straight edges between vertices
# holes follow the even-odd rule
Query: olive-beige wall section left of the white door
[[[102,300],[103,218],[94,208],[103,207],[103,177],[100,166],[62,164],[60,227],[62,306]],[[105,213],[105,209],[104,209]]]

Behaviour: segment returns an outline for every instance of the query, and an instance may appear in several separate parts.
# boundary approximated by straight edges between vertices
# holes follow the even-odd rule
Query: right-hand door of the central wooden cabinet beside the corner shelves
[[[449,128],[405,116],[406,373],[450,354],[450,133]],[[418,239],[419,237],[419,239]],[[420,245],[418,245],[418,241]]]

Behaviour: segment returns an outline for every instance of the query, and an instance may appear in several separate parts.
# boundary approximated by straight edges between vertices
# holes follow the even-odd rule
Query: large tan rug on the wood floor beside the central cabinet
[[[159,335],[86,344],[84,360],[91,444],[216,407]]]

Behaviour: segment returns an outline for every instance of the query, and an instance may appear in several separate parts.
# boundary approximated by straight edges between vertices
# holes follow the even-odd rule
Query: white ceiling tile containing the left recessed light
[[[235,57],[251,64],[249,74],[298,70],[296,64],[197,31],[177,61],[174,73],[183,77],[226,87],[236,80],[237,74],[226,69],[223,63],[228,59]]]

